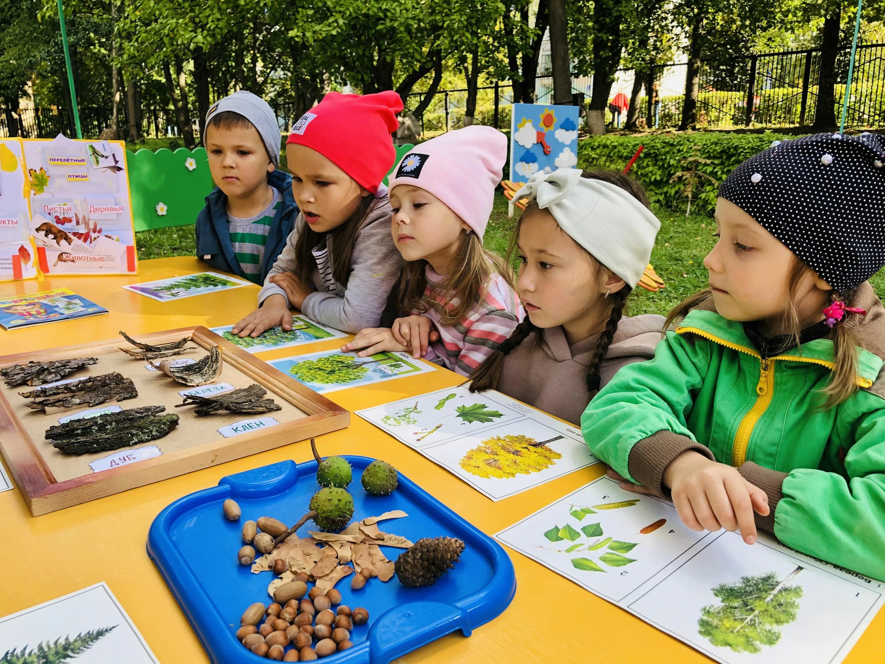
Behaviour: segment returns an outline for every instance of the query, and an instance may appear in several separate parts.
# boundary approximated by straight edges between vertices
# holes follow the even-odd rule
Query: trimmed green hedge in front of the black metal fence
[[[620,170],[627,166],[639,146],[644,145],[645,150],[636,160],[630,174],[642,182],[653,204],[676,209],[686,204],[685,185],[681,181],[671,182],[670,178],[678,171],[690,170],[689,164],[684,160],[691,156],[695,145],[701,146],[701,157],[712,160],[711,164],[699,165],[697,170],[721,182],[744,159],[766,150],[775,140],[791,137],[773,132],[590,136],[578,143],[578,167]],[[698,190],[697,187],[701,189]],[[692,195],[692,210],[711,212],[716,205],[717,189],[717,185],[701,179]]]

